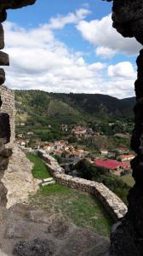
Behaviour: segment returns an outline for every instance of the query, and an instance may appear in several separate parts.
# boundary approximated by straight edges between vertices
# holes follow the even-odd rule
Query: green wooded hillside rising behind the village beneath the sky
[[[88,125],[120,120],[132,122],[134,98],[119,100],[100,94],[63,94],[41,90],[15,90],[16,133],[34,131],[45,140],[68,135],[61,124]],[[25,123],[25,127],[21,127]],[[103,126],[102,125],[102,126]],[[106,130],[106,127],[104,128]]]

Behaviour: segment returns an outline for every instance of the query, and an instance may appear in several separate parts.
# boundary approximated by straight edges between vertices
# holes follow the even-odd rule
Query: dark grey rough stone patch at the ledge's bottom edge
[[[49,256],[55,252],[54,241],[39,238],[32,241],[20,241],[14,246],[14,256]]]

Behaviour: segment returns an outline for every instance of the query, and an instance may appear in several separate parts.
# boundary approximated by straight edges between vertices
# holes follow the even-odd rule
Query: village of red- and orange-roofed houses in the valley
[[[67,131],[68,125],[62,124],[61,130]],[[16,143],[21,148],[29,148],[29,142],[33,135],[32,131],[28,131],[25,138],[22,134],[19,134]],[[94,166],[104,168],[109,173],[118,177],[129,174],[131,172],[130,160],[134,159],[135,154],[127,147],[120,147],[115,150],[100,148],[100,150],[93,154],[90,150],[85,150],[80,142],[85,138],[94,136],[98,137],[100,134],[94,132],[90,127],[75,125],[70,136],[59,141],[55,140],[54,142],[42,142],[40,139],[37,139],[33,148],[42,148],[48,154],[53,155],[58,160],[60,166],[65,169],[66,173],[72,173],[73,176],[76,176],[77,173],[75,170],[73,172],[72,166],[82,159],[87,159]],[[122,134],[118,136],[123,137]],[[71,141],[73,143],[70,143]]]

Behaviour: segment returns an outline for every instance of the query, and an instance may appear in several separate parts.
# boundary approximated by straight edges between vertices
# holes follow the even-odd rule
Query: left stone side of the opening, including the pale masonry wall
[[[1,50],[4,48],[2,22],[7,19],[7,9],[17,9],[35,2],[36,0],[0,1],[0,66],[9,66],[9,55]],[[5,72],[3,68],[0,68],[0,108],[2,107],[0,109],[0,207],[6,206],[7,203],[7,189],[4,188],[1,178],[8,167],[9,157],[12,154],[12,150],[9,148],[12,148],[14,143],[14,93],[3,86],[4,81]],[[7,148],[4,144],[7,144]]]

